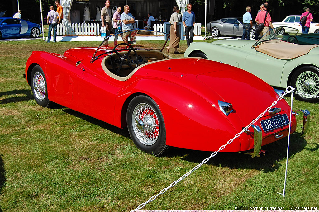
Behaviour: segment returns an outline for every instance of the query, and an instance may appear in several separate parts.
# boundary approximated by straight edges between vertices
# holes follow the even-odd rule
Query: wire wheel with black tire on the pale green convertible
[[[291,77],[291,85],[298,92],[319,96],[319,69],[314,66],[303,66],[299,68]],[[295,94],[294,96],[296,99],[305,102],[319,102],[319,99],[302,96],[300,94]]]

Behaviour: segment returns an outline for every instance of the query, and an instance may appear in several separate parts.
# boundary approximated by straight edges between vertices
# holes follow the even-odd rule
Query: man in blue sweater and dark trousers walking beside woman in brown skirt
[[[193,42],[195,24],[195,13],[192,11],[192,4],[187,4],[187,11],[183,14],[182,22],[185,26],[187,47],[189,47],[190,43]]]

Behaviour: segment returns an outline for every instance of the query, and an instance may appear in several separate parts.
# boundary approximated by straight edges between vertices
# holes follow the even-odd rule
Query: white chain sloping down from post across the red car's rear
[[[192,172],[194,172],[196,169],[198,169],[199,167],[201,167],[203,164],[207,163],[209,161],[209,159],[211,159],[212,157],[216,156],[217,153],[223,149],[225,149],[225,147],[232,143],[236,138],[238,138],[242,133],[244,133],[249,127],[251,127],[254,123],[256,123],[258,121],[258,119],[260,119],[265,113],[267,113],[267,111],[269,111],[274,105],[276,105],[278,103],[278,101],[280,101],[281,99],[284,98],[284,96],[286,96],[288,93],[293,92],[294,88],[291,86],[288,86],[286,88],[286,91],[283,92],[276,101],[274,101],[271,106],[267,107],[267,109],[261,113],[256,119],[254,119],[252,122],[250,122],[249,125],[247,125],[245,128],[242,128],[242,130],[237,133],[234,138],[230,139],[227,141],[226,144],[222,145],[221,147],[219,147],[219,150],[213,152],[209,157],[205,158],[200,164],[196,165],[194,168],[192,168],[189,172],[187,172],[186,174],[184,174],[182,177],[180,177],[179,179],[175,180],[173,183],[171,183],[169,186],[167,186],[166,188],[163,188],[158,194],[152,196],[151,198],[148,199],[148,201],[143,202],[142,204],[140,204],[139,206],[137,206],[137,208],[135,208],[134,210],[131,210],[130,212],[135,212],[141,208],[143,208],[147,203],[152,202],[153,200],[155,200],[159,195],[164,194],[168,189],[170,189],[171,187],[175,186],[177,183],[179,183],[181,180],[183,180],[184,178],[186,178],[187,176],[189,176]]]

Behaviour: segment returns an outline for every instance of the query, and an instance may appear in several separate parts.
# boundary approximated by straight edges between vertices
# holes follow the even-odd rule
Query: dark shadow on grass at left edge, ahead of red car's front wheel
[[[22,94],[22,95],[21,95]],[[8,97],[4,97],[8,96]],[[33,95],[31,90],[20,89],[13,91],[0,92],[0,105],[13,103],[13,102],[21,102],[33,99]]]

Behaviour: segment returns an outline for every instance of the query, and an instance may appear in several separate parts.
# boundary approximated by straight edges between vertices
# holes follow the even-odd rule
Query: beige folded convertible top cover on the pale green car
[[[274,43],[276,44],[274,45]],[[288,60],[301,55],[306,55],[312,48],[318,46],[319,45],[299,45],[283,40],[268,40],[258,44],[256,51],[278,59]]]

